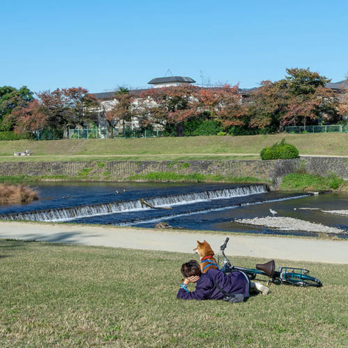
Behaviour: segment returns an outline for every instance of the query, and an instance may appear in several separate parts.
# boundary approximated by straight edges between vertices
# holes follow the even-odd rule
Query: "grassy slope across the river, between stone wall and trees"
[[[153,139],[95,139],[61,141],[0,141],[0,156],[13,156],[13,152],[29,149],[33,155],[27,160],[73,159],[73,156],[88,155],[94,159],[99,155],[106,159],[110,156],[136,156],[150,159],[189,159],[194,154],[207,154],[203,157],[215,158],[214,154],[259,154],[264,146],[285,138],[296,145],[301,155],[347,155],[348,134],[276,134],[257,136],[194,136],[182,138]],[[191,155],[187,155],[191,154]],[[166,157],[168,155],[168,157]],[[174,156],[173,156],[174,155]],[[54,157],[58,156],[58,157]],[[109,156],[109,157],[108,157]],[[146,157],[148,156],[148,157]],[[198,155],[196,155],[197,157]],[[198,156],[202,158],[201,156]],[[24,157],[20,158],[22,161]],[[78,157],[79,160],[88,157]],[[121,159],[121,157],[117,158]],[[125,160],[129,159],[127,157]],[[1,159],[8,160],[3,157]],[[16,160],[19,160],[16,158]]]

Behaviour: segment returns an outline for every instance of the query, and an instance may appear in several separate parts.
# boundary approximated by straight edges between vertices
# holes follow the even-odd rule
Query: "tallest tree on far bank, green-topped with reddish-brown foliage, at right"
[[[276,82],[262,81],[248,106],[250,125],[283,131],[288,125],[316,125],[337,120],[338,100],[325,84],[330,80],[309,68],[287,69]]]

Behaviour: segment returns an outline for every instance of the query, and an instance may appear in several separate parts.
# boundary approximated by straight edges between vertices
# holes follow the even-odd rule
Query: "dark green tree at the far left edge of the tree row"
[[[25,108],[33,100],[33,92],[26,86],[17,89],[11,86],[0,87],[0,129],[13,130],[11,113]]]

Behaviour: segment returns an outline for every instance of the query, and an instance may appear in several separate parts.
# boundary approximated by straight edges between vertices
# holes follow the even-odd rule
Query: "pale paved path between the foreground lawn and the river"
[[[193,252],[197,239],[206,239],[212,248],[230,237],[228,255],[278,258],[348,264],[348,240],[322,240],[286,237],[209,234],[167,230],[113,228],[63,224],[0,222],[0,238],[114,246],[145,250]]]

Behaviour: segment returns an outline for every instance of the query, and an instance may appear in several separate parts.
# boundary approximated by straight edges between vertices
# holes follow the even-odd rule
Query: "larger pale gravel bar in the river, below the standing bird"
[[[321,223],[312,223],[300,219],[282,216],[266,216],[254,219],[237,219],[235,223],[242,223],[244,225],[264,226],[270,228],[277,228],[278,230],[292,230],[292,231],[307,231],[307,232],[323,232],[333,233],[336,235],[348,235],[348,232],[340,228],[334,228],[322,225]]]

